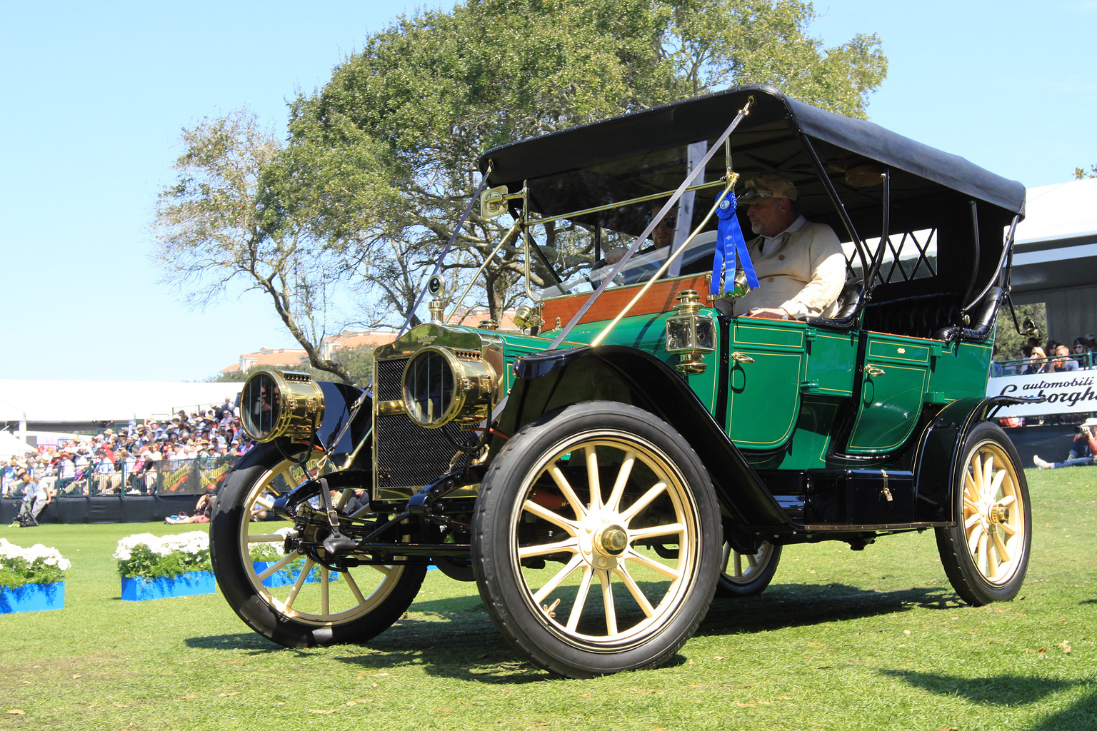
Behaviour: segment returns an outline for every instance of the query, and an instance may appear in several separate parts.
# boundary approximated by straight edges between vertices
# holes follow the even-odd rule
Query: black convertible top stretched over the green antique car
[[[810,218],[839,222],[819,182],[822,170],[857,227],[878,235],[882,186],[858,186],[846,176],[849,168],[866,163],[891,170],[893,221],[906,230],[937,226],[942,206],[954,212],[970,201],[982,202],[981,218],[996,225],[1024,215],[1020,183],[871,122],[789,99],[768,85],[736,87],[496,147],[479,158],[479,169],[486,171],[490,161],[488,184],[506,184],[511,192],[529,181],[531,207],[542,215],[674,190],[683,178],[683,158],[665,155],[660,168],[652,151],[715,139],[750,96],[750,113],[731,138],[733,168],[790,178],[801,190]],[[723,165],[724,156],[717,153],[706,179],[719,178]],[[611,187],[614,193],[604,192]]]

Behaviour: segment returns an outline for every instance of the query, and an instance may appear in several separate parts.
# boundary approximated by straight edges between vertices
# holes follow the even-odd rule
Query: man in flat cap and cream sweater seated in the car
[[[738,196],[747,207],[747,243],[759,286],[740,297],[733,315],[778,320],[833,317],[846,282],[846,258],[834,229],[800,215],[792,181],[759,173],[746,181]]]

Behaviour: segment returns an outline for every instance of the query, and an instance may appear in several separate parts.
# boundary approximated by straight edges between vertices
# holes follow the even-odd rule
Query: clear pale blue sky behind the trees
[[[419,3],[421,4],[421,3]],[[0,25],[0,378],[201,380],[294,346],[256,293],[185,301],[148,230],[180,128],[285,101],[414,3],[9,3]],[[869,116],[1027,186],[1097,163],[1097,0],[818,2],[825,45],[878,33]],[[204,307],[202,307],[204,305]]]

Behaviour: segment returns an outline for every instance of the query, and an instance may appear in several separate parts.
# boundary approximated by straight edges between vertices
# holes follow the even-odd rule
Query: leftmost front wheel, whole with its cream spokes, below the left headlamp
[[[329,571],[296,552],[259,567],[252,550],[282,553],[290,521],[253,521],[273,500],[306,479],[305,471],[273,444],[258,461],[225,479],[210,526],[217,585],[249,627],[286,647],[365,641],[388,628],[410,606],[425,566],[362,566]],[[315,476],[316,462],[308,466]]]

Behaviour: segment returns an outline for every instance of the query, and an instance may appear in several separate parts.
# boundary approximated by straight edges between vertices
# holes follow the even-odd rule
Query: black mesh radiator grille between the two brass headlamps
[[[374,393],[378,401],[400,398],[400,376],[407,359],[381,361],[376,365]],[[410,495],[450,471],[450,464],[468,434],[455,422],[441,429],[423,429],[407,414],[377,416],[374,423],[373,448],[377,458],[376,492],[378,500]]]

